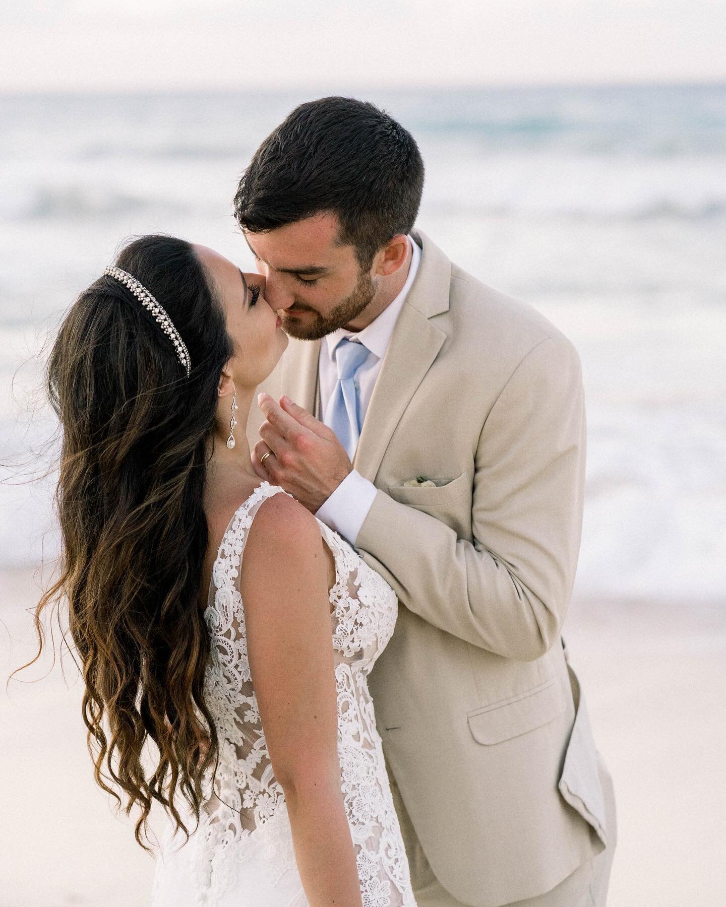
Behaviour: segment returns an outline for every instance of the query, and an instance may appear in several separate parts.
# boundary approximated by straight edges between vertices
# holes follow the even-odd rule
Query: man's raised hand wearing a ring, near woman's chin
[[[328,425],[289,397],[280,397],[278,405],[269,394],[260,394],[257,403],[266,421],[260,426],[262,440],[251,452],[252,468],[315,513],[352,471],[348,453]]]

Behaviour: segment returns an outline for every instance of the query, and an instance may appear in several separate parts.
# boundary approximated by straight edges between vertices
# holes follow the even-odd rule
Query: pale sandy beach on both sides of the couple
[[[142,907],[152,859],[93,783],[73,663],[5,694],[34,580],[0,588],[0,907]],[[579,602],[564,637],[616,787],[610,907],[726,903],[726,603]]]

